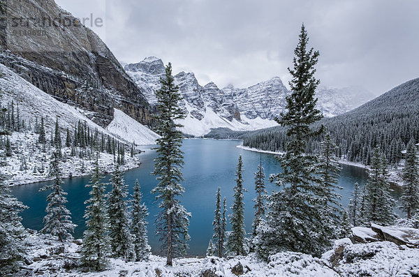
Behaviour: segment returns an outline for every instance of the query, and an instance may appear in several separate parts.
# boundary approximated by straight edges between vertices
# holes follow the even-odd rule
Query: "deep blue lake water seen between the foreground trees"
[[[244,164],[244,193],[245,202],[245,225],[247,232],[251,232],[253,219],[253,202],[256,196],[254,192],[253,173],[256,172],[260,154],[237,148],[240,141],[234,140],[184,140],[182,150],[184,151],[184,179],[183,186],[185,193],[182,197],[182,204],[192,213],[189,226],[190,249],[188,255],[204,255],[208,242],[212,237],[212,220],[214,217],[215,195],[218,187],[221,188],[222,197],[226,196],[228,211],[233,203],[233,187],[235,186],[235,167],[240,155]],[[125,173],[125,182],[128,184],[129,193],[133,193],[135,179],[141,185],[143,201],[149,209],[149,244],[153,253],[159,253],[159,241],[154,235],[154,220],[159,209],[154,202],[155,195],[150,191],[156,186],[156,178],[150,174],[154,170],[155,151],[151,147],[145,147],[140,154],[142,165]],[[281,170],[279,163],[272,154],[261,154],[262,165],[265,168],[266,176],[277,173]],[[108,181],[109,176],[103,181]],[[351,165],[342,165],[339,186],[342,195],[341,203],[346,207],[351,197],[353,184],[360,185],[367,181],[367,172]],[[78,225],[75,229],[75,238],[81,238],[84,230],[84,200],[89,196],[89,188],[85,185],[89,177],[77,177],[66,179],[63,188],[68,192],[67,207],[71,211],[73,222]],[[45,199],[49,192],[40,193],[38,190],[46,183],[29,184],[12,188],[13,194],[29,206],[29,209],[22,212],[22,222],[25,227],[34,230],[41,230],[43,227],[43,216],[45,216]],[[274,184],[266,181],[267,190],[270,192],[277,189]],[[227,227],[229,230],[229,227]]]

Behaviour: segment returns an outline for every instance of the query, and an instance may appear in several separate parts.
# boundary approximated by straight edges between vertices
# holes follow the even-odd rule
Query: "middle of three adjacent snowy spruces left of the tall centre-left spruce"
[[[129,230],[130,223],[126,207],[128,192],[119,165],[115,166],[110,184],[112,184],[112,190],[108,195],[108,219],[111,255],[121,257],[126,261],[133,260],[133,238]]]

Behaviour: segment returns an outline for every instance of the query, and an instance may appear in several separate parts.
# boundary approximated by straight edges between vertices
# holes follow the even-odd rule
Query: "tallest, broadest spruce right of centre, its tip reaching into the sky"
[[[307,50],[309,38],[304,24],[295,48],[291,94],[286,97],[287,112],[281,113],[277,123],[287,128],[286,154],[279,156],[283,172],[272,174],[271,181],[284,187],[274,191],[268,202],[266,222],[259,227],[256,250],[267,257],[281,250],[321,255],[330,245],[328,226],[322,222],[321,195],[318,186],[321,177],[316,169],[317,157],[305,153],[307,140],[323,133],[323,126],[313,130],[311,124],[322,119],[314,98],[319,81],[314,77],[318,52]]]

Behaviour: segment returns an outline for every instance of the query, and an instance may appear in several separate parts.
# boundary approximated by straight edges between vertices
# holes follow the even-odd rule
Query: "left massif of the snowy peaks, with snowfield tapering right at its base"
[[[159,80],[165,72],[163,61],[148,57],[140,63],[126,64],[125,70],[144,91],[150,105],[156,105],[154,91],[160,88]],[[193,73],[178,73],[175,83],[184,97],[179,104],[187,114],[181,121],[184,133],[200,136],[209,133],[211,128],[256,130],[277,125],[266,117],[242,116],[233,93],[219,89],[213,82],[201,86]]]

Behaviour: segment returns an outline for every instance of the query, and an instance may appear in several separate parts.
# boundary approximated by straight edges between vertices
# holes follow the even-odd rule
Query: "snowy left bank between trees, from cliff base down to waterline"
[[[0,91],[1,102],[4,106],[13,101],[15,108],[15,115],[19,110],[20,120],[23,120],[27,128],[24,132],[13,132],[8,135],[13,154],[7,156],[1,167],[1,173],[7,176],[6,184],[10,186],[29,184],[36,181],[50,180],[49,175],[49,160],[54,151],[54,148],[48,143],[44,148],[37,144],[39,135],[34,133],[35,120],[38,123],[41,117],[44,119],[45,133],[47,140],[50,140],[54,132],[55,121],[58,117],[59,126],[61,128],[61,140],[66,141],[66,128],[73,134],[74,128],[78,121],[85,122],[89,129],[97,129],[99,133],[116,137],[117,140],[126,140],[131,137],[124,137],[120,133],[113,135],[110,131],[101,128],[94,121],[87,117],[87,112],[79,108],[72,107],[66,103],[52,98],[49,94],[34,87],[19,75],[0,64]],[[116,126],[121,126],[121,122],[135,122],[128,134],[136,132],[141,140],[147,140],[147,143],[152,143],[151,131],[144,130],[144,126],[128,116],[121,117],[117,111]],[[91,114],[89,114],[90,116]],[[132,141],[132,140],[131,140]],[[140,142],[140,140],[139,140]],[[75,149],[79,151],[79,149]],[[61,160],[61,177],[75,177],[89,174],[94,168],[94,160],[80,157],[78,155],[71,155],[71,147],[64,147],[61,149],[63,160]],[[80,152],[79,152],[80,153]],[[3,155],[3,153],[1,153]],[[99,166],[101,170],[110,172],[115,166],[115,156],[108,153],[101,153],[99,158]],[[121,165],[122,170],[128,170],[138,167],[140,157],[131,157],[128,153],[124,157],[125,163]]]

